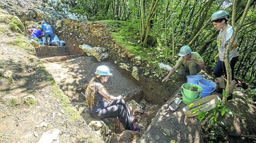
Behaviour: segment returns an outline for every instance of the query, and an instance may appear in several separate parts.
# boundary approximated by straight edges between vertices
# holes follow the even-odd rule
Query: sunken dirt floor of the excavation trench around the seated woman
[[[146,96],[144,94],[145,90],[148,90],[145,85],[143,87],[130,75],[130,72],[120,69],[110,61],[98,62],[96,58],[84,54],[70,55],[67,47],[60,46],[41,46],[36,49],[36,53],[46,70],[52,74],[60,89],[69,98],[73,106],[77,108],[85,121],[88,120],[88,114],[86,114],[86,98],[83,95],[85,94],[83,85],[95,76],[94,72],[100,65],[108,66],[110,72],[113,73],[113,77],[109,78],[108,82],[104,84],[111,95],[123,95],[126,96],[127,103],[130,100],[135,100],[142,105],[142,111],[134,111],[134,115],[139,119],[136,125],[142,129],[141,135],[146,131],[158,109],[162,106],[162,104],[148,101],[146,98],[150,95]],[[150,92],[153,93],[153,90]],[[118,120],[112,121],[116,122]],[[122,131],[123,128],[120,128],[120,126],[115,126],[111,130],[112,133],[121,133]]]

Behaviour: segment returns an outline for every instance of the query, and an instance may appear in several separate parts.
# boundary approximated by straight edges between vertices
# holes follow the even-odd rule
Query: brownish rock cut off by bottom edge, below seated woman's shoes
[[[107,139],[107,143],[135,143],[140,137],[140,134],[135,131],[126,130],[121,134],[111,135]]]

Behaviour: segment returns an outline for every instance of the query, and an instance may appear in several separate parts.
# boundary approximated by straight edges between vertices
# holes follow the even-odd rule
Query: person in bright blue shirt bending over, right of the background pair
[[[51,45],[52,44],[52,41],[53,41],[53,28],[50,24],[46,23],[45,21],[42,21],[42,29],[44,31],[44,35],[45,36],[45,39],[46,39],[46,43],[47,45]]]

